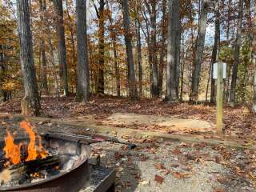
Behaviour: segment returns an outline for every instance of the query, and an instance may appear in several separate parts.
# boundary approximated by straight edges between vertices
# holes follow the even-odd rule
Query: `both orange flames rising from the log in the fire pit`
[[[20,126],[23,130],[26,131],[27,134],[30,136],[30,143],[27,147],[27,161],[31,161],[37,158],[46,158],[48,153],[44,150],[41,138],[38,139],[38,146],[36,146],[36,134],[33,131],[32,126],[29,122],[23,121],[21,122]],[[20,163],[21,160],[21,146],[22,144],[15,144],[14,137],[7,131],[7,135],[5,138],[6,146],[4,147],[4,151],[6,153],[6,158],[9,159],[14,165]],[[38,149],[38,150],[37,150]]]

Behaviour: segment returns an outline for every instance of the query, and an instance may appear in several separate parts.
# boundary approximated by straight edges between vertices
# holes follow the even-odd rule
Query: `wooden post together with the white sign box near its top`
[[[214,63],[214,79],[217,79],[217,132],[222,134],[223,122],[223,78],[226,78],[226,63]]]

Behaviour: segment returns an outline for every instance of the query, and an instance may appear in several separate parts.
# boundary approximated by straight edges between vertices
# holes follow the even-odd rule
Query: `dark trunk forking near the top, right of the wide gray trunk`
[[[94,4],[94,8],[98,17],[98,94],[104,94],[104,67],[105,67],[105,14],[104,0],[99,1],[99,7]]]

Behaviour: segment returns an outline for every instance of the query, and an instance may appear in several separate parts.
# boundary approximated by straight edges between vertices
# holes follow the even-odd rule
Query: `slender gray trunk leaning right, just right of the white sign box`
[[[234,42],[234,65],[232,70],[232,79],[230,86],[230,106],[234,106],[235,104],[235,94],[236,94],[236,86],[237,86],[237,78],[238,78],[238,65],[239,65],[239,54],[240,54],[240,46],[242,44],[241,33],[242,33],[242,15],[243,15],[243,0],[239,0],[239,12],[238,12],[238,28],[236,39]]]

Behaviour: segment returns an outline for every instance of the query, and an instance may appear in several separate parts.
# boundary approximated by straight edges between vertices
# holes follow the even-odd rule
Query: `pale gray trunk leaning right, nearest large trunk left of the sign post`
[[[198,41],[196,45],[195,58],[194,58],[194,71],[192,74],[190,102],[198,101],[199,82],[201,78],[201,68],[202,68],[202,54],[205,46],[205,37],[206,37],[207,12],[209,9],[208,1],[209,0],[202,1],[202,10],[201,10],[201,14],[199,18],[199,26],[198,26]]]

